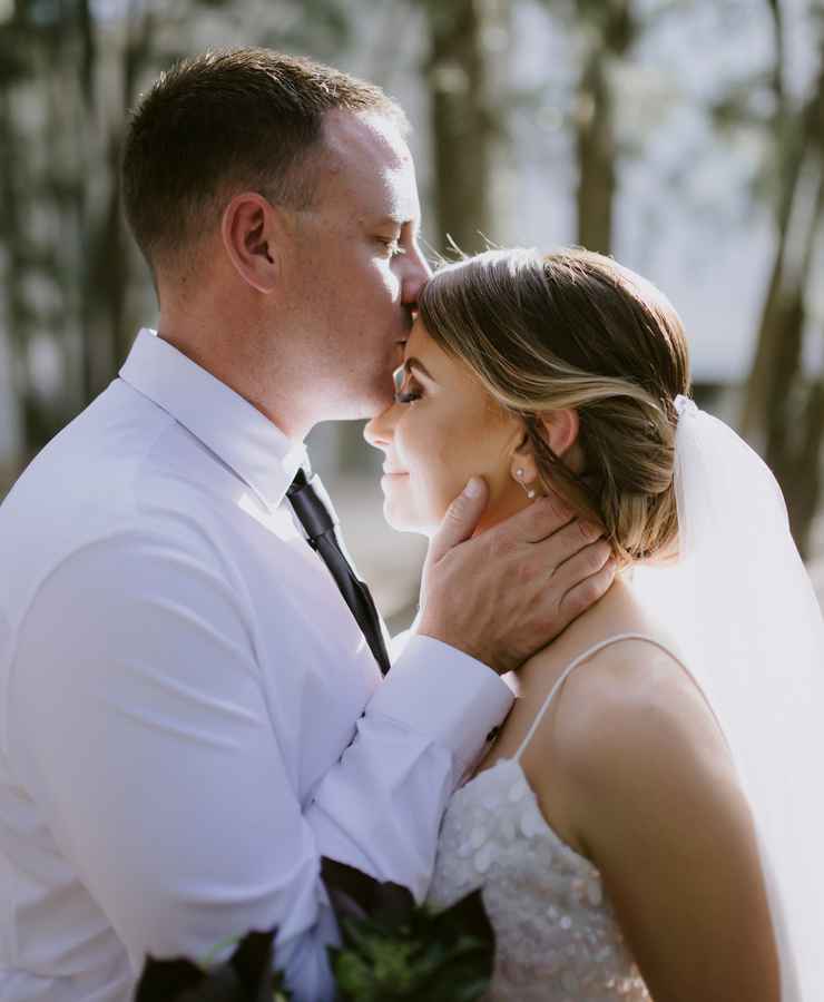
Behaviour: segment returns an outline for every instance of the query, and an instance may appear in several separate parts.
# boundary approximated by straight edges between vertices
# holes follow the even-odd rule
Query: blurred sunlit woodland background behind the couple
[[[0,498],[156,321],[120,213],[127,110],[232,45],[401,101],[433,257],[573,243],[658,284],[698,402],[772,466],[824,601],[824,0],[0,0]],[[379,454],[362,424],[310,450],[405,627],[424,542],[384,524]]]

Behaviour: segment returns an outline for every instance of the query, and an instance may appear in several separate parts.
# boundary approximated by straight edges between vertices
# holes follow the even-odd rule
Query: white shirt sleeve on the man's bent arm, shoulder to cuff
[[[21,628],[9,700],[14,770],[136,975],[147,953],[198,957],[276,926],[294,999],[324,1002],[339,933],[321,856],[420,900],[449,795],[511,694],[485,666],[414,638],[302,805],[237,589],[207,560],[141,538],[87,547],[52,572]]]

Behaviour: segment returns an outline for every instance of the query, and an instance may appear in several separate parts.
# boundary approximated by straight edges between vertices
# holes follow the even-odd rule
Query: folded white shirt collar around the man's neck
[[[294,442],[257,407],[143,327],[120,379],[167,411],[207,445],[272,508],[298,466],[307,465],[303,442]]]

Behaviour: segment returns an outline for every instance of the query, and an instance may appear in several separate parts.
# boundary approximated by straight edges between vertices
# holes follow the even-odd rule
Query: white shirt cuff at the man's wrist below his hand
[[[513,699],[487,665],[433,637],[414,635],[365,713],[431,735],[454,755],[459,779],[494,738]]]

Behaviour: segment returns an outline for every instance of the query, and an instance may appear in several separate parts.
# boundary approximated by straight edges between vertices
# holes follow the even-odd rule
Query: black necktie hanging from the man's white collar
[[[286,497],[306,530],[308,544],[313,550],[317,550],[321,559],[330,569],[341,595],[346,600],[346,605],[352,610],[352,615],[357,620],[357,625],[375,656],[381,672],[385,675],[390,669],[390,660],[386,645],[383,642],[377,609],[375,609],[369,588],[363,581],[357,580],[349,560],[343,554],[335,536],[337,523],[313,487],[316,479],[313,477],[308,481],[304,471],[298,470],[292,485],[286,491]]]

